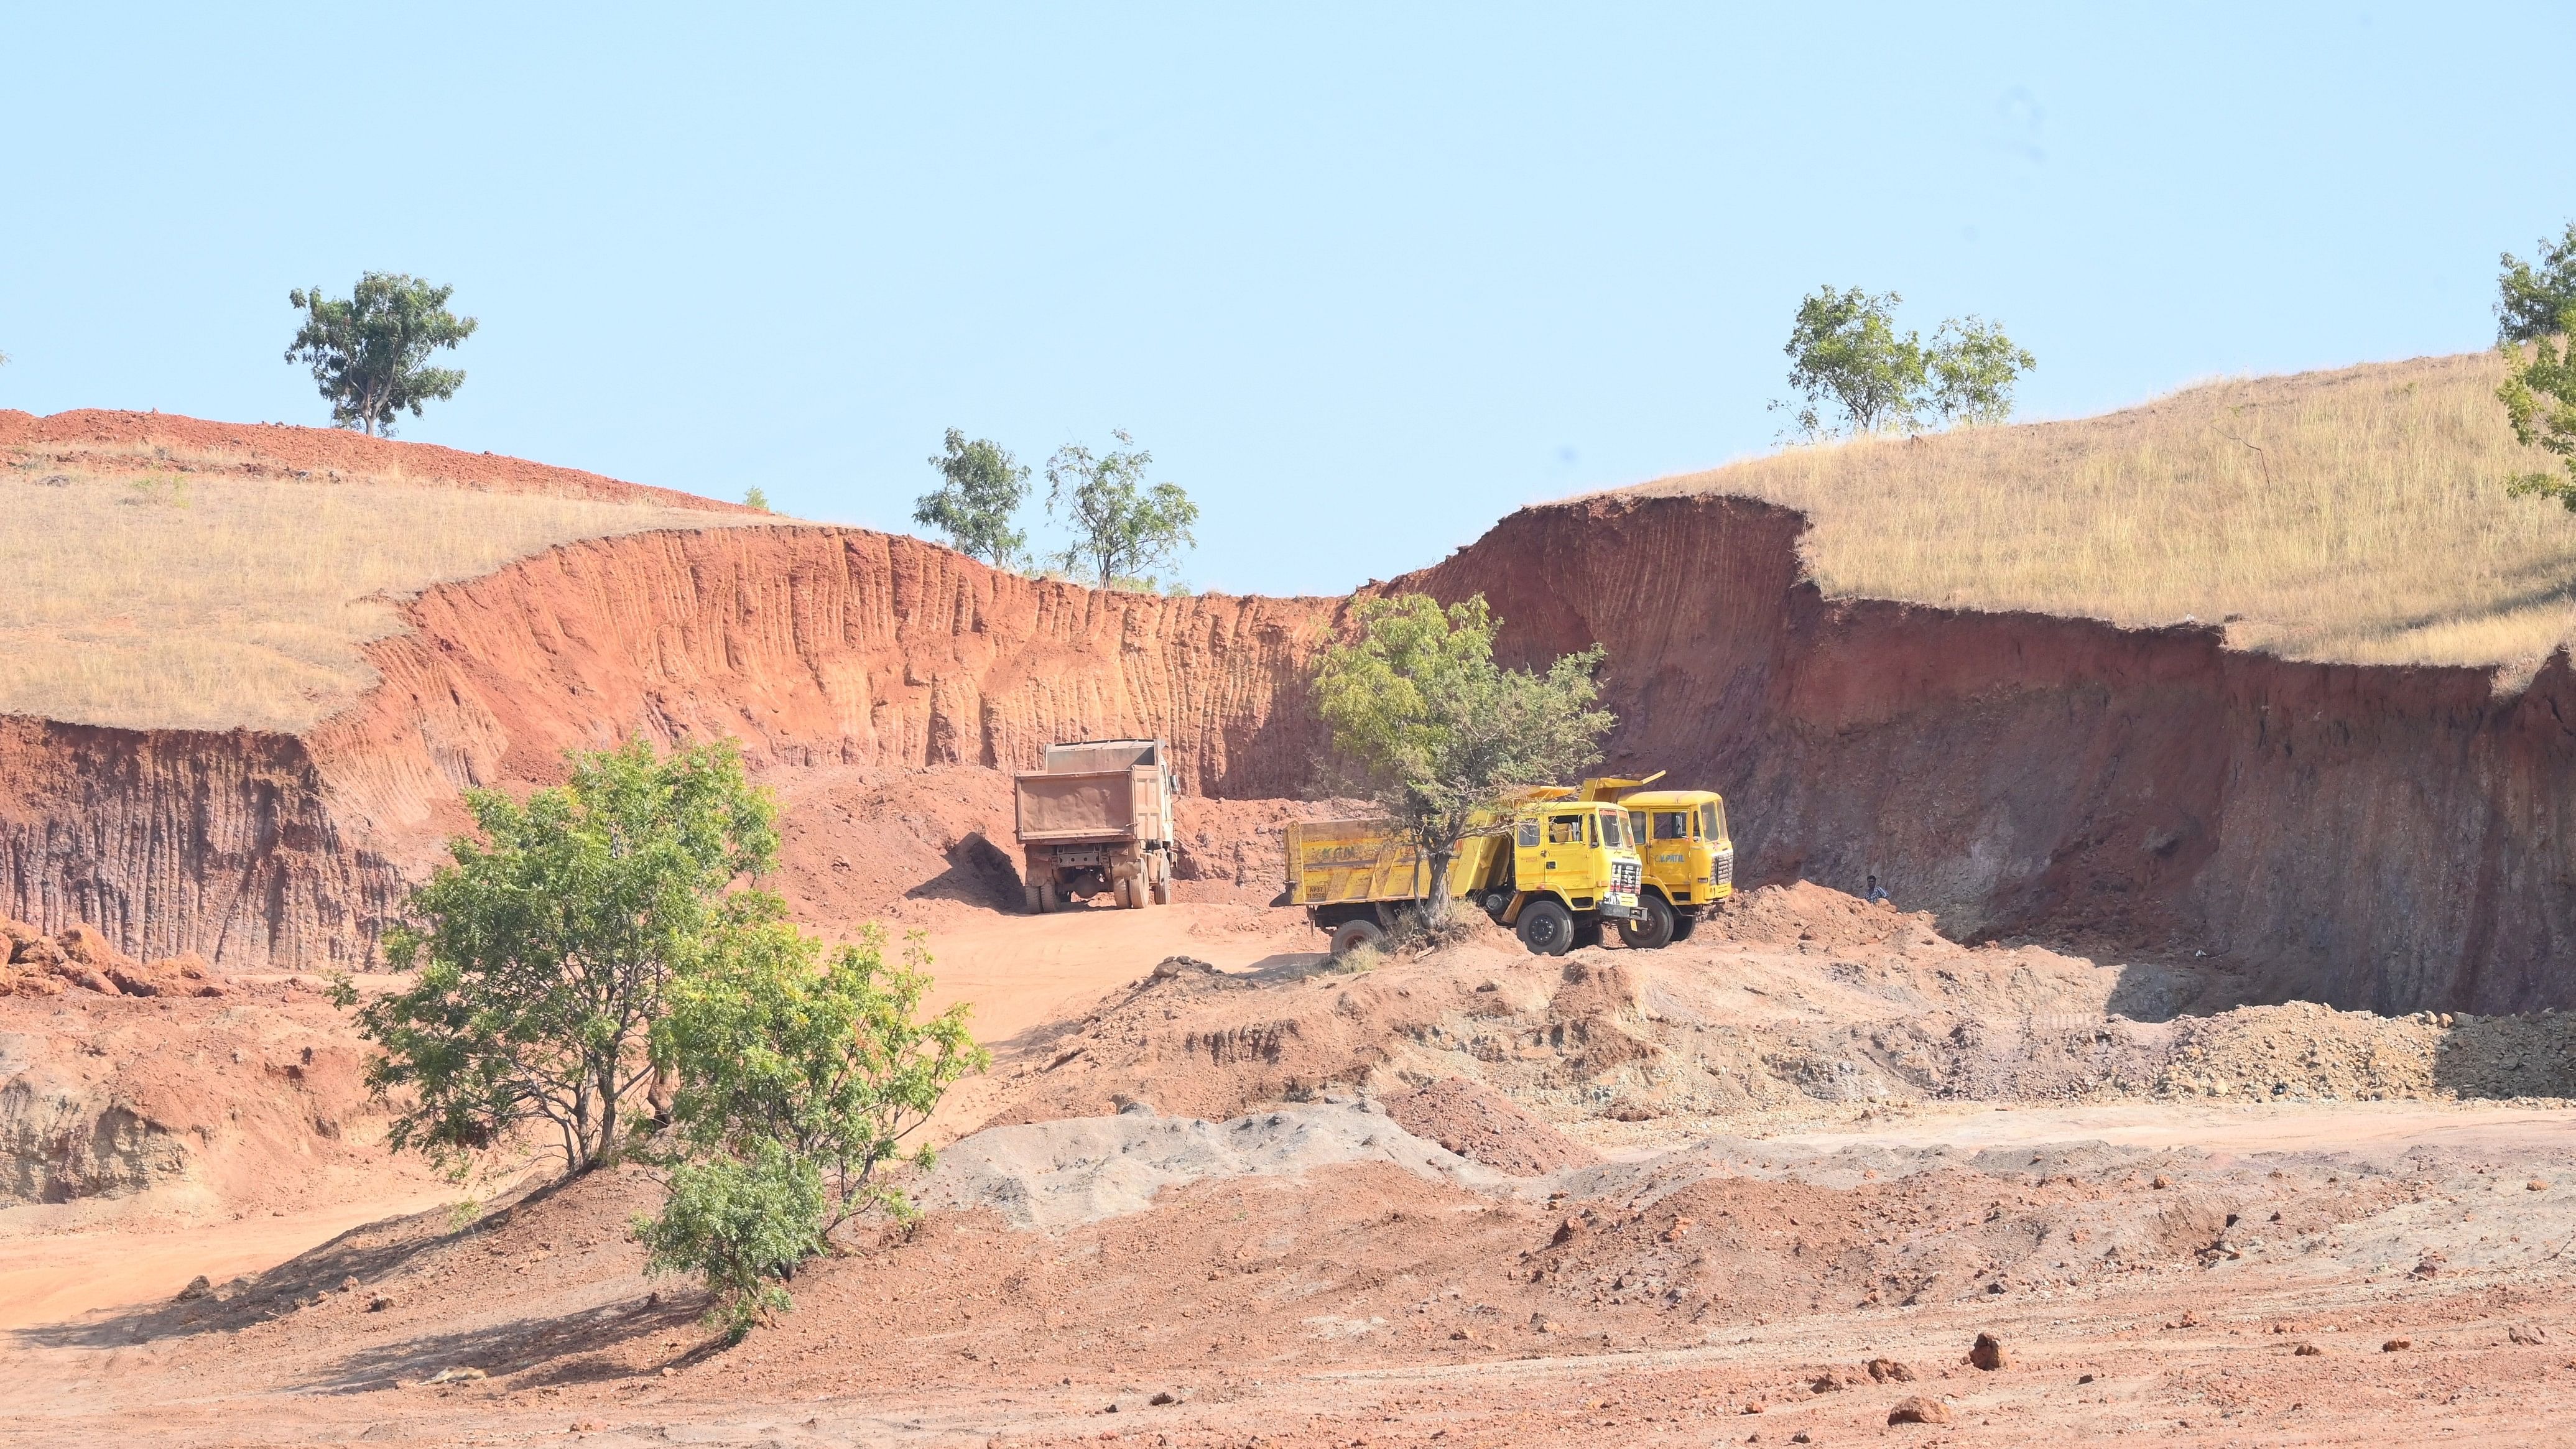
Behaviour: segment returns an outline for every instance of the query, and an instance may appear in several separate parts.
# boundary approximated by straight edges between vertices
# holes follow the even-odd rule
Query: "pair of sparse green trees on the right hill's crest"
[[[1932,335],[1896,329],[1904,296],[1832,286],[1798,301],[1790,327],[1788,386],[1795,407],[1795,432],[1880,432],[1940,422],[2002,422],[2012,417],[2014,381],[2038,365],[1994,322],[1953,317]]]

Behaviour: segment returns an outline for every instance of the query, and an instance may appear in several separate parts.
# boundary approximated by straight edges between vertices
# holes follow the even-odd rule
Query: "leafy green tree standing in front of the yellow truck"
[[[1615,723],[1597,708],[1602,646],[1543,674],[1494,664],[1499,620],[1476,595],[1360,600],[1358,638],[1334,643],[1314,692],[1334,752],[1430,860],[1430,919],[1448,916],[1450,860],[1468,818],[1522,785],[1548,785],[1600,759]]]

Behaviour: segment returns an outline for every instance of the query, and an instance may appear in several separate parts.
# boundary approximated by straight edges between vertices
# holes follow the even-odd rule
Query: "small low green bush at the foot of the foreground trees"
[[[781,1287],[822,1251],[822,1174],[778,1143],[752,1156],[683,1163],[670,1176],[662,1212],[636,1217],[644,1271],[696,1274],[714,1305],[706,1320],[742,1341],[757,1323],[788,1310]]]

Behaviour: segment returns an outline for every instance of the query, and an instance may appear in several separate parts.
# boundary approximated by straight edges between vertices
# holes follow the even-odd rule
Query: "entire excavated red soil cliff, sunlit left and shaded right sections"
[[[1953,934],[2208,952],[2251,968],[2244,999],[2576,1004],[2550,973],[2576,939],[2566,659],[2509,695],[2208,628],[1837,602],[1801,533],[1744,499],[1577,499],[1386,587],[1484,592],[1517,659],[1607,643],[1613,764],[1726,790],[1749,883],[1875,872]],[[737,736],[781,782],[1159,734],[1198,795],[1293,795],[1340,607],[1092,592],[840,528],[574,543],[422,595],[381,685],[301,739],[13,723],[0,909],[232,968],[363,955],[461,788],[636,731]],[[961,844],[927,847],[940,872],[992,865]]]

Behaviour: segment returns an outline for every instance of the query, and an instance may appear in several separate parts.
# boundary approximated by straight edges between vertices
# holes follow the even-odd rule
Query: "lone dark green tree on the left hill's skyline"
[[[466,381],[456,368],[428,365],[430,353],[474,335],[471,317],[448,311],[453,291],[402,273],[366,273],[348,299],[289,291],[304,324],[286,360],[312,363],[332,425],[392,438],[397,412],[420,417],[425,401],[446,401]]]

